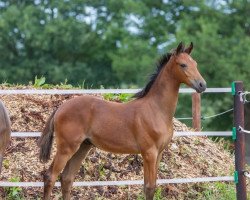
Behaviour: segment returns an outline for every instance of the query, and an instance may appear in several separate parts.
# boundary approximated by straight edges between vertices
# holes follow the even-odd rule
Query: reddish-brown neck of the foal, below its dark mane
[[[164,114],[166,120],[172,121],[178,102],[180,82],[171,72],[171,61],[164,66],[148,93],[148,100]]]

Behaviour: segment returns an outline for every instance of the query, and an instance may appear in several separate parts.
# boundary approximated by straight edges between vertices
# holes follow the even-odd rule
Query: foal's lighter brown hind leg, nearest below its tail
[[[44,200],[50,199],[50,194],[52,192],[53,186],[56,182],[58,175],[79,147],[80,145],[75,145],[73,147],[73,145],[70,145],[67,142],[60,142],[60,144],[57,146],[55,158],[48,171],[44,175]]]

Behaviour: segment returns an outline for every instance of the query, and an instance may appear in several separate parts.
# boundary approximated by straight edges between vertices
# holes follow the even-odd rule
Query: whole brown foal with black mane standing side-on
[[[57,152],[45,175],[43,199],[50,198],[62,170],[63,199],[70,199],[75,174],[94,145],[112,153],[141,154],[146,200],[153,200],[157,168],[163,150],[173,137],[180,85],[185,83],[197,92],[206,89],[197,63],[190,56],[192,49],[192,43],[188,48],[180,43],[174,52],[164,55],[156,73],[135,95],[135,100],[121,104],[89,96],[77,97],[62,104],[50,116],[40,139],[40,160],[49,159],[53,137],[56,137]]]

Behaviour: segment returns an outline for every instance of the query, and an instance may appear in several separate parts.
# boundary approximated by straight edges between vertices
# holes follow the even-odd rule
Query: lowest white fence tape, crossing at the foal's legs
[[[234,181],[233,176],[221,177],[203,177],[203,178],[176,178],[176,179],[159,179],[158,184],[170,183],[197,183],[197,182],[215,182],[215,181]],[[75,187],[93,187],[93,186],[124,186],[124,185],[142,185],[143,180],[127,180],[127,181],[84,181],[74,182]],[[0,181],[0,187],[43,187],[43,182],[3,182]],[[56,182],[55,186],[60,187],[61,183]]]

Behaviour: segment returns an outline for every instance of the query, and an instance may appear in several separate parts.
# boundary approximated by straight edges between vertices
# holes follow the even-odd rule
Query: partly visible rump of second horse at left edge
[[[0,101],[0,174],[2,171],[2,162],[5,149],[9,145],[11,134],[11,125],[8,112]]]

